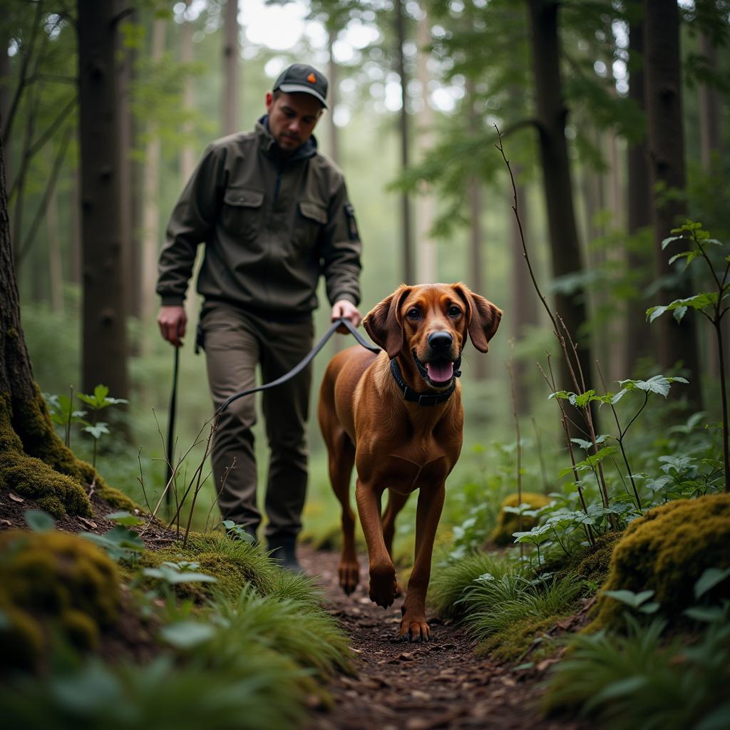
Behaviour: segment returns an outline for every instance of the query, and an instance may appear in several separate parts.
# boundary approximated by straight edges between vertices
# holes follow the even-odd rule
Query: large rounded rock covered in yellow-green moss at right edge
[[[707,568],[730,567],[730,494],[677,499],[634,520],[613,550],[604,591],[654,591],[653,601],[670,621],[694,605],[694,584]],[[730,598],[730,580],[713,599]],[[621,628],[626,606],[603,594],[588,631]]]

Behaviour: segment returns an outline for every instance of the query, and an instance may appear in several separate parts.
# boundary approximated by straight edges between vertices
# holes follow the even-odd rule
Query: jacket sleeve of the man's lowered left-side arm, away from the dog
[[[158,264],[163,306],[183,304],[198,245],[207,242],[225,190],[225,150],[207,147],[172,210]]]

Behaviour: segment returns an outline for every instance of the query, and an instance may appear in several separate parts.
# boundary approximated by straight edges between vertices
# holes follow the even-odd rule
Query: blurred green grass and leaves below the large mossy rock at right
[[[572,650],[549,677],[545,710],[575,708],[617,730],[728,726],[730,602],[710,605],[708,596],[729,575],[730,570],[710,568],[696,581],[694,596],[704,605],[685,611],[697,622],[692,637],[666,639],[664,620],[643,623],[631,612],[624,613],[626,631],[576,634],[569,640]],[[639,612],[656,606],[647,603],[653,591],[610,594]]]

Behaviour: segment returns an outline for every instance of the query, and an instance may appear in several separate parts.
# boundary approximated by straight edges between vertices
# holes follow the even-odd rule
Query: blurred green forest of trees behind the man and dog
[[[504,310],[488,356],[465,353],[466,440],[450,479],[455,495],[502,496],[514,486],[521,450],[527,487],[555,489],[545,464],[564,448],[548,399],[556,388],[536,364],[545,371],[552,364],[559,379],[559,347],[525,265],[496,128],[531,264],[579,345],[585,389],[683,376],[688,385],[653,407],[638,447],[661,450],[669,424],[702,428],[719,445],[712,329],[696,312],[681,324],[664,317],[650,325],[645,310],[707,288],[704,274],[683,272],[682,261],[669,266],[676,252],[661,241],[673,226],[700,220],[728,240],[728,28],[729,5],[718,1],[264,8],[247,0],[6,0],[0,120],[34,376],[49,396],[103,383],[129,401],[110,434],[74,433],[72,447],[138,502],[140,483],[150,502],[161,493],[158,430],[166,428],[172,349],[154,322],[154,285],[166,220],[204,147],[253,128],[272,81],[295,61],[330,78],[330,110],[315,136],[345,172],[356,209],[361,310],[402,281],[456,280]],[[89,58],[102,69],[110,59],[112,73],[90,82]],[[113,185],[94,185],[85,164],[104,167]],[[323,294],[320,304],[321,333]],[[204,360],[193,354],[192,287],[188,307],[177,453],[211,415]],[[339,337],[328,352],[349,344]],[[315,364],[315,384],[326,359]],[[319,529],[337,521],[337,510],[316,424],[311,431],[305,527]],[[265,459],[259,463],[263,473]],[[209,482],[198,526],[212,499]],[[447,512],[447,521],[458,518],[458,509]]]

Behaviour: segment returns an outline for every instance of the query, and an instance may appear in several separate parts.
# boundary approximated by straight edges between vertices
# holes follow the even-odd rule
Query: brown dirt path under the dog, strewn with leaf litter
[[[431,618],[430,642],[397,636],[402,599],[383,610],[367,594],[367,565],[360,556],[357,590],[337,584],[335,553],[302,546],[299,559],[318,580],[334,615],[350,637],[357,677],[338,675],[329,685],[331,711],[312,712],[307,730],[580,730],[579,723],[541,720],[542,673],[520,673],[476,656],[464,631]]]

